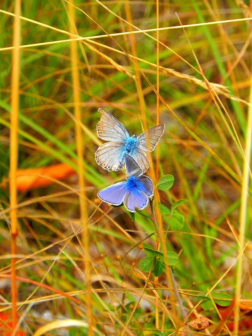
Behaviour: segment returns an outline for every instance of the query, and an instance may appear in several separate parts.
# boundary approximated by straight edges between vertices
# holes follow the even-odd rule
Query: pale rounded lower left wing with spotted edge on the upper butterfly
[[[97,149],[95,160],[104,169],[118,170],[124,165],[124,154],[121,142],[106,142]]]

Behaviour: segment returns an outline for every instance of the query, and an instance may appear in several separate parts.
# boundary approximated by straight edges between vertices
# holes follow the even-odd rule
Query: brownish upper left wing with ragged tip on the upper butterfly
[[[105,141],[125,141],[128,139],[129,133],[119,121],[108,111],[99,108],[101,113],[100,120],[97,123],[98,137]]]

